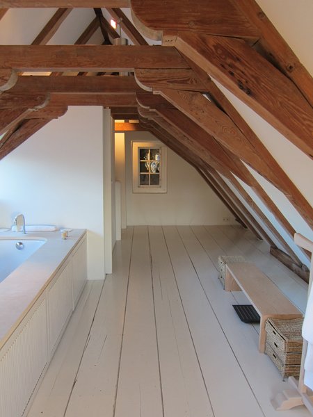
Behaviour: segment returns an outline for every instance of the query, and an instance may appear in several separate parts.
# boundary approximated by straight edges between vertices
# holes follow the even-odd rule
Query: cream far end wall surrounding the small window
[[[168,192],[132,192],[131,140],[155,140],[148,132],[125,133],[127,224],[236,224],[230,211],[191,165],[168,149]],[[223,218],[229,222],[223,222]]]

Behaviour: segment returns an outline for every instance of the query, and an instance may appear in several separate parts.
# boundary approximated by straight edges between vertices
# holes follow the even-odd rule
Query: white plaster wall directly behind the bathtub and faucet
[[[70,107],[0,161],[0,226],[88,229],[88,279],[104,279],[101,107]]]

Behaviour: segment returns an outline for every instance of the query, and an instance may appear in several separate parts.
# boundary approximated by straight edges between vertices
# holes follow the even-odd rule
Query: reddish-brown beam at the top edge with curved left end
[[[257,40],[259,31],[250,24],[246,15],[229,0],[131,0],[136,15],[136,26],[154,31],[160,39],[162,31],[195,31],[212,35],[234,36]]]

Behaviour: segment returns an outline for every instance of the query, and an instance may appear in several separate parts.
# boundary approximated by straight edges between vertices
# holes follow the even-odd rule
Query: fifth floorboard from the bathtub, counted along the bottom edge
[[[163,229],[214,415],[264,416],[211,309],[177,229]]]

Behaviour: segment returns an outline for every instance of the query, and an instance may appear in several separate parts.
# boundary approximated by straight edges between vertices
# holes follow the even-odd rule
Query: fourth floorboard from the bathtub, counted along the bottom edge
[[[166,417],[213,416],[161,227],[149,227]]]

